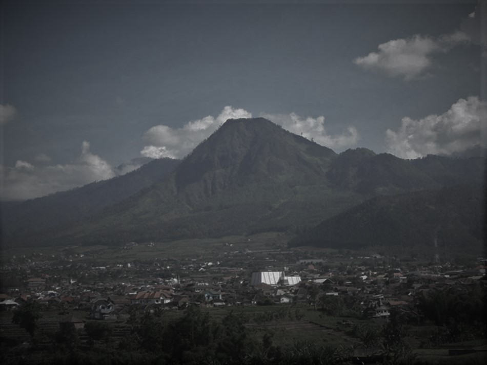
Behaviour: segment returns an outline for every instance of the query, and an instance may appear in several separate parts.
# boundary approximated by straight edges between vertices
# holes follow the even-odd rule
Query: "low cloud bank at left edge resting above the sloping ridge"
[[[14,167],[2,166],[0,199],[32,199],[120,175],[117,169],[90,151],[89,142],[84,141],[81,149],[80,156],[72,163],[37,166],[18,160]],[[35,160],[48,162],[42,154]]]

